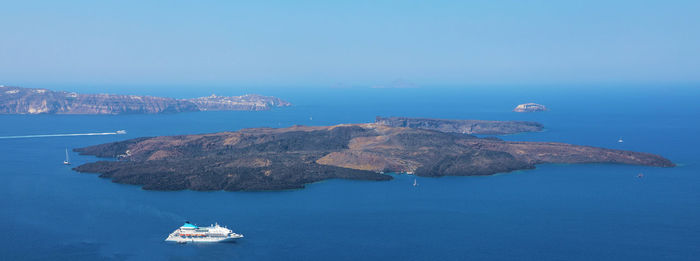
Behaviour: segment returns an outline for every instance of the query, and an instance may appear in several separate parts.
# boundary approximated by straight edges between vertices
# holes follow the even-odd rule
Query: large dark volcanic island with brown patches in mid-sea
[[[642,152],[501,141],[376,123],[145,137],[75,151],[118,159],[87,163],[76,171],[148,190],[279,190],[334,178],[392,178],[384,172],[491,175],[543,163],[674,166]]]

